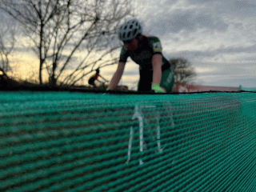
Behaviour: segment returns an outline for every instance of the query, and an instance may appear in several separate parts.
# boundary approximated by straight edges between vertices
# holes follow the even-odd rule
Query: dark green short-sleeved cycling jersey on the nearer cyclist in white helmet
[[[128,51],[125,46],[122,46],[119,62],[126,63],[127,58],[130,57],[140,66],[140,70],[153,70],[152,56],[154,54],[162,54],[162,46],[159,38],[143,36],[139,42],[138,49],[135,51]],[[162,66],[170,68],[169,62],[163,56]]]

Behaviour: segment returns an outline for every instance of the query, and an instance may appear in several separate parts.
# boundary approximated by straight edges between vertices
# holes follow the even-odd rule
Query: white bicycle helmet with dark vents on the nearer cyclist
[[[138,34],[142,34],[142,26],[137,19],[125,22],[118,31],[118,36],[121,41],[130,41],[136,38]]]

